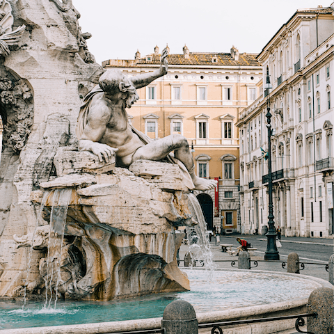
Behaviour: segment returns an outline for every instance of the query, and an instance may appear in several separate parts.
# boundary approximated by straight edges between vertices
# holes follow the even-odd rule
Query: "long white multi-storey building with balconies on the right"
[[[334,234],[334,3],[297,10],[257,60],[273,88],[241,112],[241,232],[268,222],[267,108],[270,107],[273,209],[283,235]]]

